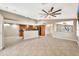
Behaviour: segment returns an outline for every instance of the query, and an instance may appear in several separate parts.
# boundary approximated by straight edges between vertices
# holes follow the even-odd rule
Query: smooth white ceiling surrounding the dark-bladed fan
[[[9,10],[17,14],[24,15],[26,17],[31,17],[34,19],[44,19],[40,13],[41,10],[49,10],[53,6],[55,9],[62,9],[61,15],[57,17],[52,17],[52,19],[72,19],[77,18],[77,6],[76,3],[1,3],[0,9]]]

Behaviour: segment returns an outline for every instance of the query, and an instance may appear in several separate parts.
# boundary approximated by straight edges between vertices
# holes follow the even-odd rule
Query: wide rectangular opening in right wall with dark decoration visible
[[[57,22],[56,32],[73,32],[73,21]]]

